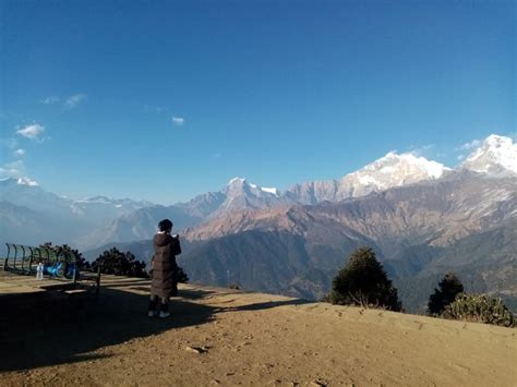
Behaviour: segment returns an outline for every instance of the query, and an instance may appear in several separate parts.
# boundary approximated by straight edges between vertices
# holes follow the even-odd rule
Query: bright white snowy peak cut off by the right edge
[[[460,167],[492,176],[517,173],[517,144],[509,137],[491,134]]]

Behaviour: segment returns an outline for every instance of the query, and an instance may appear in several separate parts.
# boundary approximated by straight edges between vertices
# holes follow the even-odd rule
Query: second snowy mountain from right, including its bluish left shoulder
[[[297,184],[289,189],[285,196],[304,204],[339,202],[395,186],[440,179],[449,171],[450,169],[444,165],[423,157],[389,152],[378,160],[339,180]]]

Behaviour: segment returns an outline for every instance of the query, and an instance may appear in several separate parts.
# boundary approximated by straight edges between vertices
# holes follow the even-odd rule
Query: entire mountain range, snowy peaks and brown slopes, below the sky
[[[409,309],[422,309],[447,269],[476,291],[517,297],[517,144],[504,136],[455,169],[390,152],[340,179],[280,192],[236,178],[172,206],[71,201],[23,179],[0,181],[0,193],[9,241],[101,246],[91,257],[117,244],[148,259],[156,223],[171,218],[183,229],[182,266],[206,283],[314,299],[353,249],[370,245]]]

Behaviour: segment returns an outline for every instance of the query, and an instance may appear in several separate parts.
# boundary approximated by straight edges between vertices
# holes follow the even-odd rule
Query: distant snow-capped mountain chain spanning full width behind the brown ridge
[[[73,201],[46,192],[28,178],[0,180],[0,202],[59,218],[59,225],[68,223],[77,234],[70,243],[81,240],[82,246],[91,247],[97,240],[104,243],[148,238],[155,225],[167,217],[172,217],[176,229],[195,227],[235,210],[336,203],[397,186],[442,181],[466,170],[494,178],[513,177],[517,173],[517,145],[508,137],[491,135],[456,170],[413,154],[389,152],[340,179],[296,184],[285,192],[235,178],[218,192],[204,193],[172,206],[106,196]],[[11,208],[11,217],[16,208]],[[20,230],[23,232],[23,227]]]

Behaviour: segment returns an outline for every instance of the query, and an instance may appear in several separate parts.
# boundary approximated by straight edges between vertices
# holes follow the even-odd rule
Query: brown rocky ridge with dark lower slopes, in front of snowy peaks
[[[450,269],[469,291],[517,305],[516,230],[517,179],[462,170],[339,203],[232,211],[188,229],[179,262],[194,281],[318,299],[369,245],[409,311]],[[151,241],[122,249],[152,254]]]

